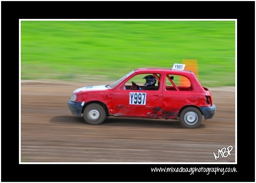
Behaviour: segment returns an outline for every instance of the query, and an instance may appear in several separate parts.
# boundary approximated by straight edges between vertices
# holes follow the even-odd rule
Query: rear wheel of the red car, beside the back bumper
[[[197,128],[202,122],[202,114],[195,107],[184,108],[179,115],[179,122],[184,128]]]

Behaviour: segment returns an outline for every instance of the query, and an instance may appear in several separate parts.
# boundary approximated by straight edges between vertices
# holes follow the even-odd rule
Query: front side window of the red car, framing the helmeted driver
[[[125,90],[158,90],[160,87],[160,74],[147,73],[137,74],[129,79],[125,85]]]

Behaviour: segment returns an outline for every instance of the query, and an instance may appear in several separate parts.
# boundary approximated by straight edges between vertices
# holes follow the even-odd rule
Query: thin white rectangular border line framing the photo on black
[[[21,21],[235,21],[235,162],[21,162]],[[19,164],[237,164],[237,19],[19,19],[19,82]]]

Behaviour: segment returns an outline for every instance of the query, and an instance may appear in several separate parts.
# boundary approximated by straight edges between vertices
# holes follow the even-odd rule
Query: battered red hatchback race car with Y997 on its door
[[[211,92],[191,71],[137,68],[111,85],[78,88],[68,106],[85,122],[100,124],[105,117],[143,117],[179,120],[186,128],[214,116]]]

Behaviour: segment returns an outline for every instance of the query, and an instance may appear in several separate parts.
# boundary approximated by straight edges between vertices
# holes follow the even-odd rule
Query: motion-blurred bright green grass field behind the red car
[[[21,21],[21,79],[115,81],[197,59],[204,86],[235,86],[235,21]]]

